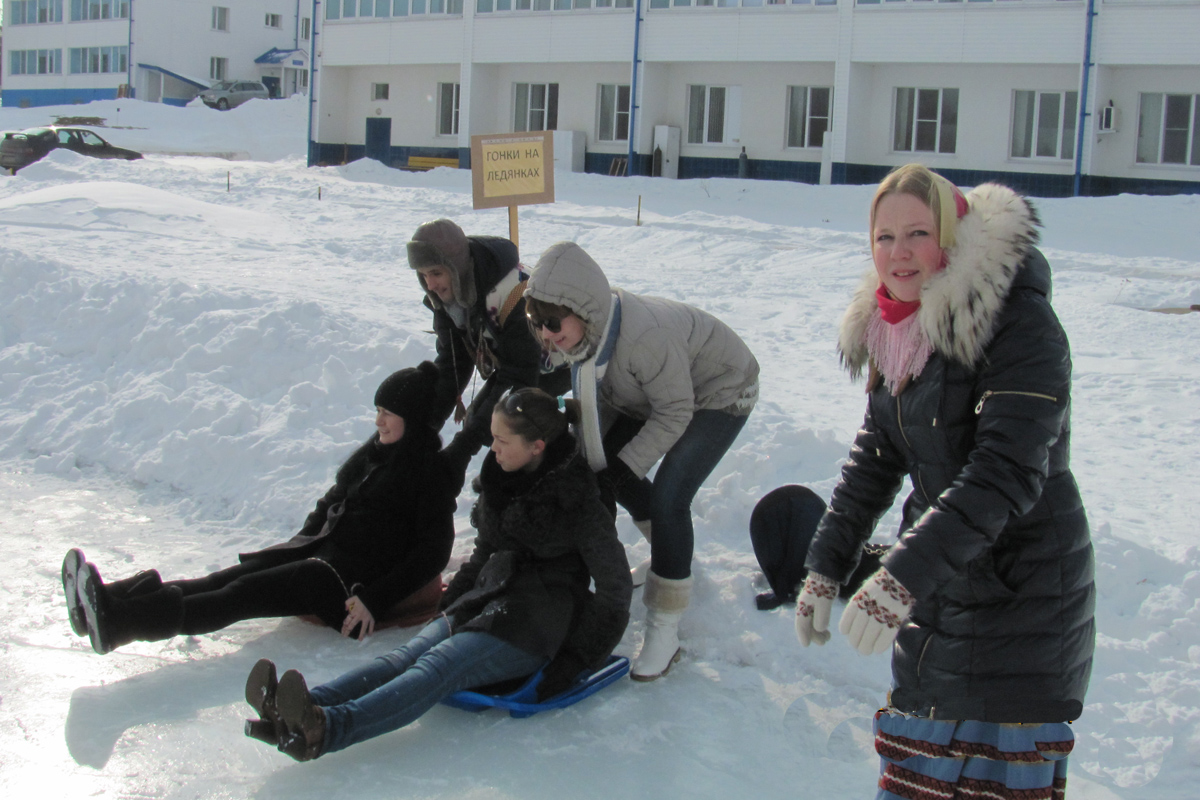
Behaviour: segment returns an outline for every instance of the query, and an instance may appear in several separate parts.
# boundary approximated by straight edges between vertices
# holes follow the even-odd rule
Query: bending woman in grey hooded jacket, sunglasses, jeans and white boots
[[[580,440],[601,493],[650,540],[646,640],[631,674],[653,680],[679,656],[677,630],[691,591],[691,500],[745,426],[758,396],[758,362],[712,314],[611,288],[574,242],[546,251],[524,296],[542,345],[571,365]]]

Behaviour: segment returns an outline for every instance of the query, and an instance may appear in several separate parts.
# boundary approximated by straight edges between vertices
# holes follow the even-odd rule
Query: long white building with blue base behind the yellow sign
[[[1200,192],[1200,0],[635,2],[316,0],[311,160],[551,128],[605,174]]]

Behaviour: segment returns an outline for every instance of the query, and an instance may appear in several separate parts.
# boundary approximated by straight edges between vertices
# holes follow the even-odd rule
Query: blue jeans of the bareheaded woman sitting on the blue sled
[[[545,663],[491,633],[451,636],[438,616],[388,655],[310,691],[325,711],[322,753],[403,728],[460,690],[524,678]]]

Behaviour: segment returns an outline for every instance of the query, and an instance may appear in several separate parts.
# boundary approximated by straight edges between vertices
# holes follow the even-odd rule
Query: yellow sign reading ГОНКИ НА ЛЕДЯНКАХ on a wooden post
[[[509,209],[509,239],[520,249],[517,206],[554,201],[554,133],[470,137],[470,180],[476,209]]]

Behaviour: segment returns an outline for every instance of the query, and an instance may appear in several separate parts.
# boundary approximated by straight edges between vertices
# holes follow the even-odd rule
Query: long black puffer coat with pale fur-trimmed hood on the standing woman
[[[917,599],[893,651],[890,705],[943,720],[1074,720],[1096,589],[1069,464],[1070,349],[1032,247],[1032,209],[996,186],[968,199],[944,277],[922,295],[934,354],[899,396],[871,389],[805,566],[845,582],[908,475],[900,541],[883,560]],[[862,311],[842,321],[852,369]]]

